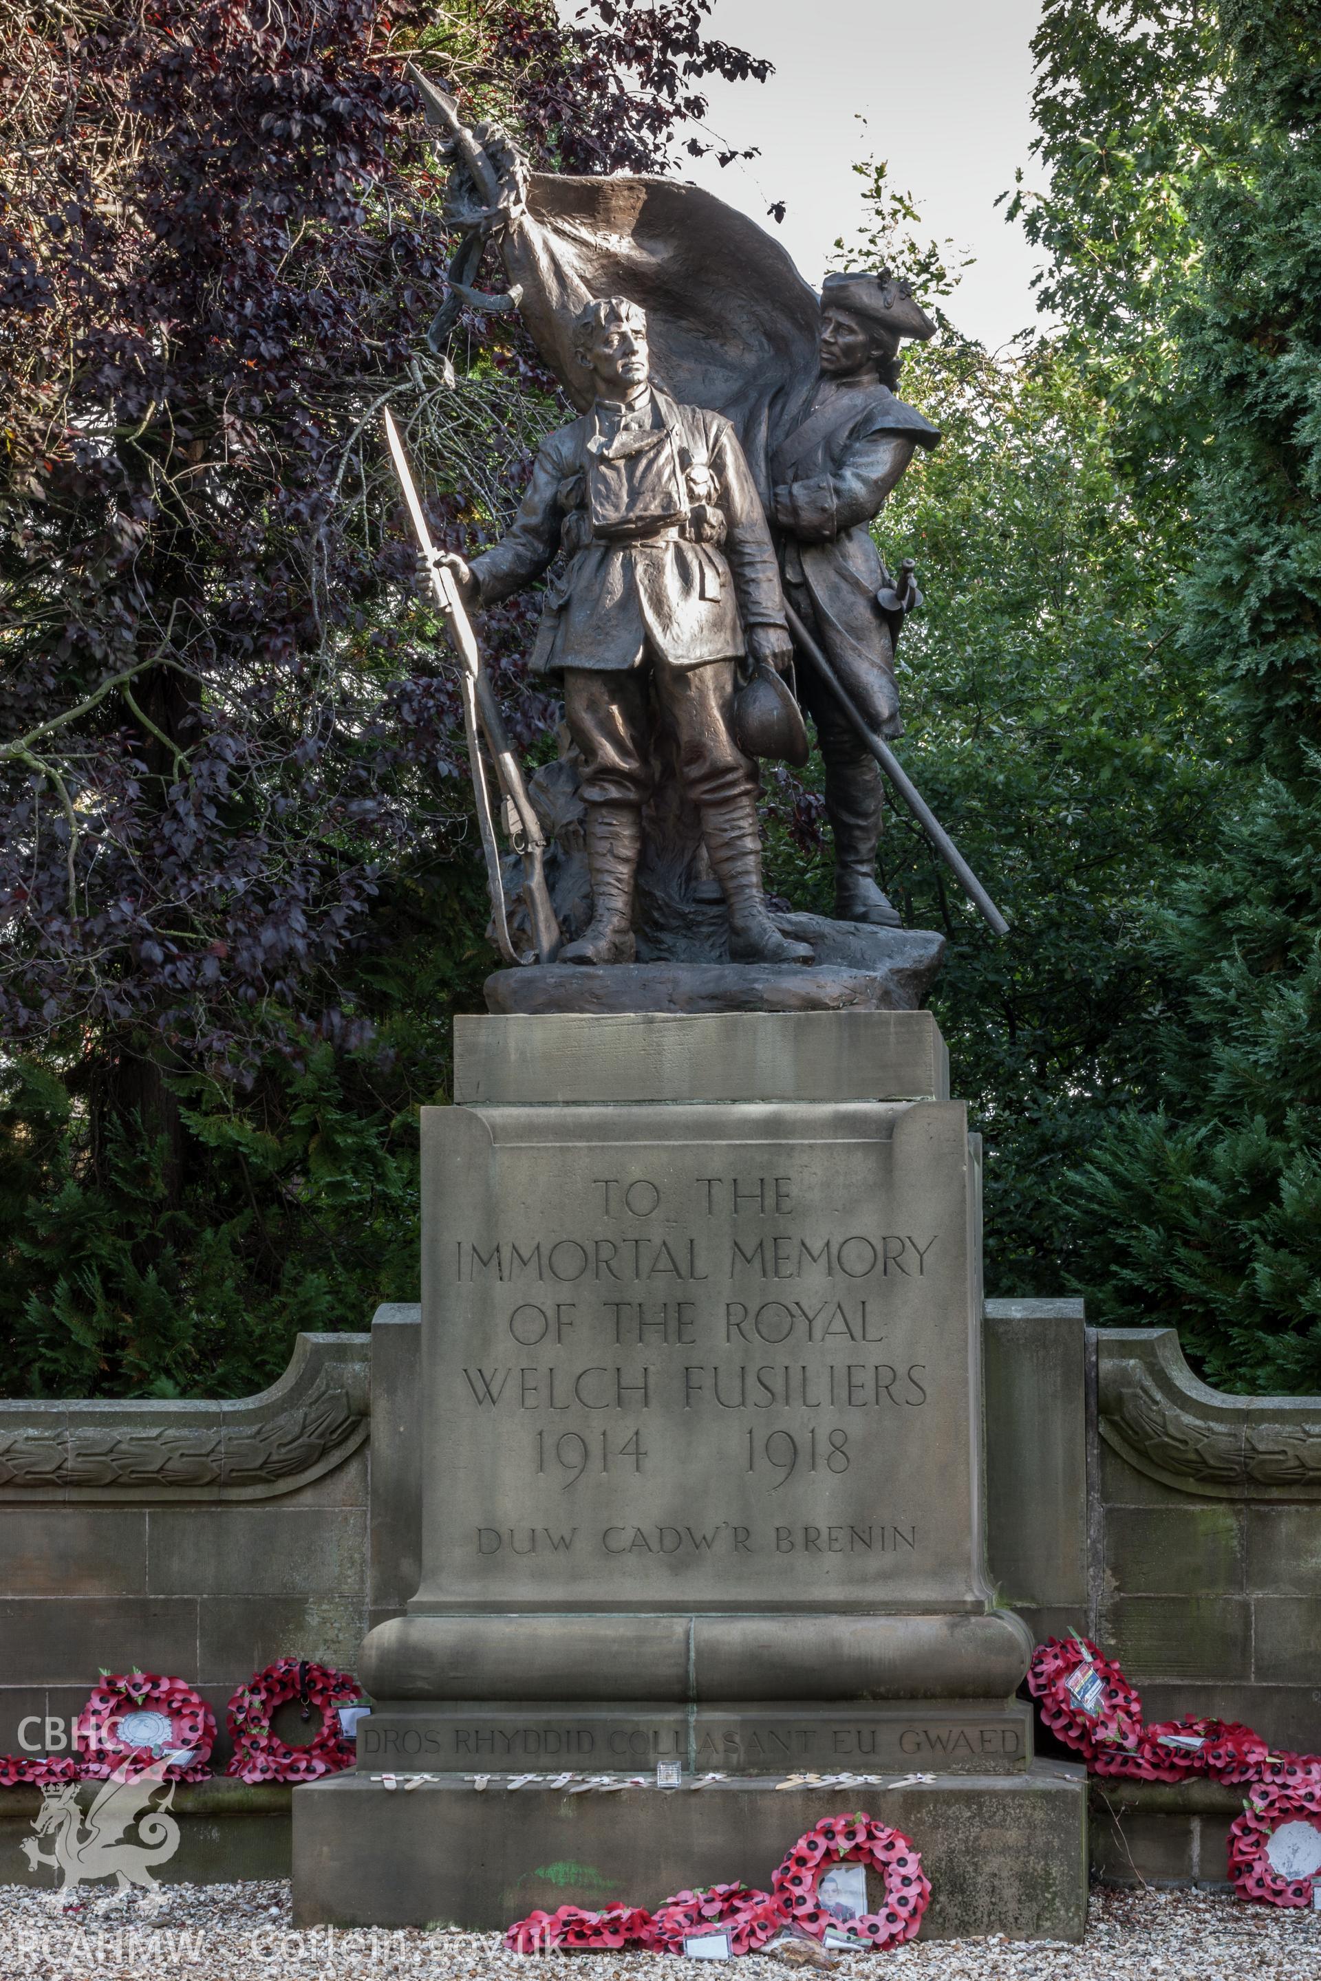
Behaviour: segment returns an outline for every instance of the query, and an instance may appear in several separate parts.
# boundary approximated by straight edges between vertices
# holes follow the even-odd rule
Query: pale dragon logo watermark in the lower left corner
[[[168,1864],[178,1850],[178,1823],[168,1813],[174,1783],[160,1803],[152,1805],[151,1799],[164,1787],[164,1771],[174,1759],[178,1757],[162,1755],[151,1767],[115,1769],[109,1781],[95,1783],[87,1815],[77,1801],[81,1783],[61,1781],[44,1789],[42,1807],[32,1823],[36,1834],[24,1836],[18,1846],[30,1868],[50,1864],[61,1872],[61,1892],[95,1878],[117,1878],[121,1892],[131,1884],[158,1890],[151,1868]],[[125,1838],[125,1830],[135,1825],[137,1840]],[[42,1836],[51,1838],[51,1850],[42,1850]]]

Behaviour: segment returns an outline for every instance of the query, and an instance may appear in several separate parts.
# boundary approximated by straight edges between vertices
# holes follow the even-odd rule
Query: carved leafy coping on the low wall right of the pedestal
[[[1321,1498],[1321,1399],[1208,1389],[1172,1327],[1099,1333],[1097,1412],[1105,1442],[1167,1486],[1216,1500]]]

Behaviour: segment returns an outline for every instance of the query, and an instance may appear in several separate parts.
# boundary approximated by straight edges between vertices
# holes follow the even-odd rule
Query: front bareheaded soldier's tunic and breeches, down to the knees
[[[483,604],[541,576],[559,551],[566,565],[533,670],[564,679],[584,800],[646,800],[652,691],[693,802],[753,790],[757,767],[733,737],[737,660],[743,626],[784,626],[784,600],[729,420],[652,388],[551,434],[513,529],[471,561]]]

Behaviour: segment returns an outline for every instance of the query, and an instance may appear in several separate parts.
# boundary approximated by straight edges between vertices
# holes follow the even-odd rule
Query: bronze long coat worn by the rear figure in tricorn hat
[[[826,658],[881,735],[899,735],[903,725],[889,620],[875,598],[881,557],[867,525],[913,448],[933,448],[939,438],[883,384],[826,380],[770,458],[772,521],[790,598],[794,588],[806,590]]]

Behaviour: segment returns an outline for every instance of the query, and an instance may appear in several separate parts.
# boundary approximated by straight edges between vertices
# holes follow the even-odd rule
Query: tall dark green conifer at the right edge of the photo
[[[1186,998],[1165,1105],[1069,1179],[1105,1321],[1176,1323],[1210,1381],[1321,1389],[1321,14],[1222,0],[1220,143],[1172,317],[1204,418],[1184,650],[1250,796],[1157,925]]]

